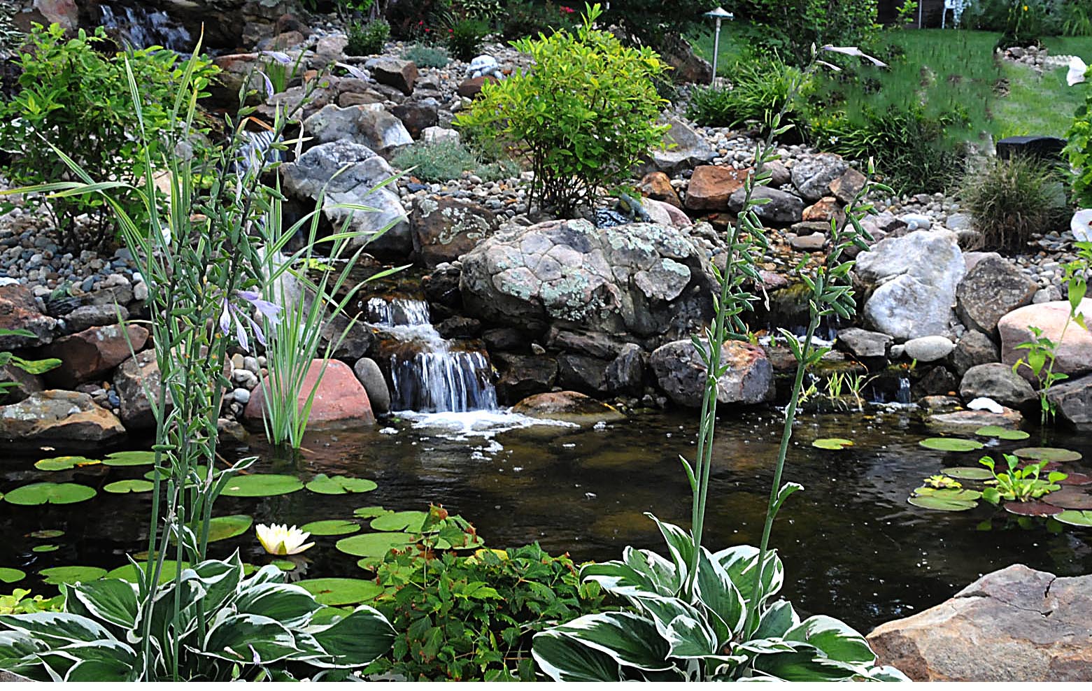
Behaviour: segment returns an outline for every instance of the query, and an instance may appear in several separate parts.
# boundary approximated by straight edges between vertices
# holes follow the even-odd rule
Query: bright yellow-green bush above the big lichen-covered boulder
[[[597,190],[627,178],[667,129],[656,124],[664,102],[653,83],[663,62],[593,28],[601,13],[589,7],[575,33],[515,41],[535,69],[486,82],[456,120],[475,136],[499,134],[522,148],[535,174],[532,200],[563,215],[594,205]]]

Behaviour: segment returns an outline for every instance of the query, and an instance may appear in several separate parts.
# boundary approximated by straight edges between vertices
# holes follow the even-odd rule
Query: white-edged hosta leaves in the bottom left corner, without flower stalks
[[[273,565],[245,577],[236,552],[182,570],[151,600],[127,581],[67,585],[62,611],[0,616],[0,668],[38,681],[339,680],[390,648],[375,609],[317,626],[322,605],[283,580]],[[145,621],[154,664],[142,671]]]

